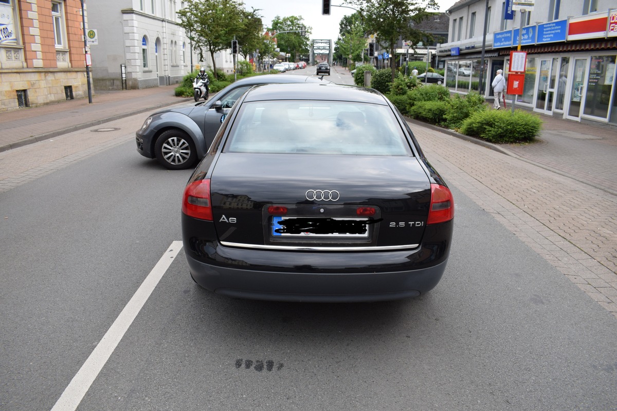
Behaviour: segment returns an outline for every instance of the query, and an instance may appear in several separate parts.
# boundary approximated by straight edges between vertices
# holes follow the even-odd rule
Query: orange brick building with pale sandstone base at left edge
[[[87,17],[80,0],[0,0],[0,112],[88,96]]]

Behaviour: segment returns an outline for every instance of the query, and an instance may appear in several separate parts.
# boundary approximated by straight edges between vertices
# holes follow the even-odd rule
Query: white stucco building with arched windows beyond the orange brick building
[[[210,54],[197,61],[178,26],[181,0],[87,0],[89,29],[97,44],[89,47],[95,89],[141,89],[180,83],[197,65],[212,68]],[[215,55],[217,69],[233,72],[230,51]]]

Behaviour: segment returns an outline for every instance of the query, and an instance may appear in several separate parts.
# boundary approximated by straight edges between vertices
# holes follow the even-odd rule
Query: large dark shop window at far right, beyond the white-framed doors
[[[615,83],[615,55],[593,55],[587,77],[587,93],[583,110],[585,115],[608,117],[613,83]]]

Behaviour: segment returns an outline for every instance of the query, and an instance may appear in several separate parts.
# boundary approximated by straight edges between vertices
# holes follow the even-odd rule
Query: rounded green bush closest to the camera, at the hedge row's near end
[[[531,142],[542,129],[539,116],[523,110],[489,110],[473,113],[463,121],[461,132],[492,143]]]

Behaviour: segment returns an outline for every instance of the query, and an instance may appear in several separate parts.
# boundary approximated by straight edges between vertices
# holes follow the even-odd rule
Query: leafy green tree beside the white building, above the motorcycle
[[[178,11],[179,26],[186,30],[193,47],[204,59],[204,49],[210,52],[214,75],[217,65],[214,54],[231,47],[231,40],[242,31],[244,4],[238,0],[187,0]]]

